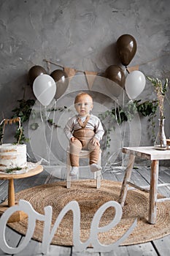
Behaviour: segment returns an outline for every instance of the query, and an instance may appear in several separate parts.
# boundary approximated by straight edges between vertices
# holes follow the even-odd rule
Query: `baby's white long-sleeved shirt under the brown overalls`
[[[86,118],[86,116],[76,115],[69,119],[69,121],[66,123],[66,126],[64,127],[64,132],[66,133],[66,137],[69,140],[74,137],[73,133],[75,130],[82,128],[77,121],[77,117],[80,117],[82,122],[85,121]],[[91,114],[85,128],[93,129],[95,131],[94,138],[96,138],[98,141],[102,139],[104,135],[104,128],[102,127],[101,121],[97,116],[93,116]]]

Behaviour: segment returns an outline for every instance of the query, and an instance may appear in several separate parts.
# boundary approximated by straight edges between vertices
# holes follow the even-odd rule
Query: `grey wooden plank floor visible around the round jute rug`
[[[124,169],[118,168],[113,170],[107,170],[103,173],[104,179],[109,179],[112,181],[123,181]],[[37,176],[31,178],[24,178],[15,180],[15,192],[27,189],[29,187],[35,187],[41,184],[52,183],[55,181],[60,181],[55,176],[50,175],[45,170]],[[137,185],[145,186],[150,183],[150,167],[137,167],[133,169],[131,181],[135,181]],[[170,183],[170,170],[169,167],[160,167],[159,171],[159,184]],[[7,181],[0,181],[0,203],[2,203],[7,198]],[[170,187],[159,188],[158,192],[163,195],[170,197]],[[9,246],[18,246],[23,237],[7,227],[6,238]],[[72,246],[54,246],[50,245],[49,252],[47,255],[50,256],[167,256],[170,255],[170,236],[165,236],[164,238],[150,241],[145,244],[136,244],[131,246],[119,246],[112,252],[93,252],[93,249],[87,249],[85,252],[74,252],[74,247]],[[0,249],[0,256],[6,255]],[[18,256],[34,256],[42,255],[41,253],[41,243],[31,240],[26,249],[17,254]]]

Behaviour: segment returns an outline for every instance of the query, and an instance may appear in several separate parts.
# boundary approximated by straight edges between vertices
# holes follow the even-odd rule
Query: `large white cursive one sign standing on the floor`
[[[106,211],[109,207],[115,208],[115,217],[112,219],[112,222],[110,222],[108,225],[104,227],[99,227],[100,219],[104,214],[104,211]],[[60,224],[65,214],[70,210],[73,212],[73,244],[74,249],[77,252],[82,252],[90,244],[93,245],[94,251],[109,252],[112,249],[114,249],[115,246],[118,246],[120,243],[122,243],[125,240],[125,238],[127,238],[130,235],[132,230],[134,230],[134,227],[136,227],[135,220],[131,227],[128,229],[128,231],[113,244],[104,245],[101,244],[100,241],[98,241],[98,233],[107,232],[108,230],[112,229],[112,227],[115,227],[115,225],[117,225],[120,222],[120,219],[123,214],[120,204],[117,203],[116,201],[110,200],[107,203],[104,203],[100,208],[98,208],[96,214],[94,214],[90,226],[90,236],[87,241],[82,243],[82,241],[80,241],[80,206],[77,203],[77,201],[69,202],[62,209],[62,211],[55,220],[53,228],[51,228],[53,208],[51,206],[46,206],[44,210],[44,215],[39,214],[31,206],[31,203],[29,203],[26,200],[20,200],[18,206],[12,206],[9,209],[7,209],[7,211],[4,212],[0,219],[0,248],[8,254],[17,254],[18,252],[21,252],[31,240],[31,237],[33,236],[34,229],[36,226],[36,219],[38,219],[44,222],[42,236],[42,253],[47,254],[48,247],[50,246],[50,242],[52,241],[53,236],[55,235],[58,225]],[[5,228],[9,217],[15,211],[24,211],[26,214],[28,214],[28,228],[26,236],[23,238],[22,243],[18,247],[11,247],[7,244],[5,238]]]

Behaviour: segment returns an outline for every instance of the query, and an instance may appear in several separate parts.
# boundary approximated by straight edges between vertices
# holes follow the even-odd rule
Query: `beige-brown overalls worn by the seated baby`
[[[90,151],[90,165],[98,162],[100,147],[98,145],[93,146],[90,140],[94,137],[95,132],[92,129],[85,128],[90,116],[87,116],[82,123],[80,118],[77,118],[82,128],[74,131],[73,143],[70,143],[70,162],[71,166],[79,166],[79,154],[82,149]]]

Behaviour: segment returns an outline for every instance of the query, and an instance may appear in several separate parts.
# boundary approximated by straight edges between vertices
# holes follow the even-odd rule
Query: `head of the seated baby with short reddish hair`
[[[83,95],[77,99],[74,106],[80,116],[88,116],[93,108],[93,100],[88,95]]]

